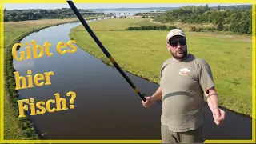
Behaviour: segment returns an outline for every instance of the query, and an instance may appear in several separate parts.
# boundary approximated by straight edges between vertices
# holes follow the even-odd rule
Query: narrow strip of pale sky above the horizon
[[[180,6],[206,6],[206,3],[74,3],[78,9],[103,9],[103,8],[143,8],[143,7],[180,7]],[[250,5],[250,4],[238,4],[238,3],[209,3],[208,6],[232,6],[232,5]],[[22,9],[59,9],[59,8],[70,8],[66,3],[42,3],[42,4],[27,4],[27,3],[5,3],[4,7],[6,10],[22,10]]]

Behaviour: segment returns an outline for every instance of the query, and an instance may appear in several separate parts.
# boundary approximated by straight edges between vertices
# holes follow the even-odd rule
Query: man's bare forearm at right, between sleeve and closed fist
[[[206,100],[212,112],[213,110],[218,109],[218,94],[215,87],[209,89],[209,94],[206,94]]]

